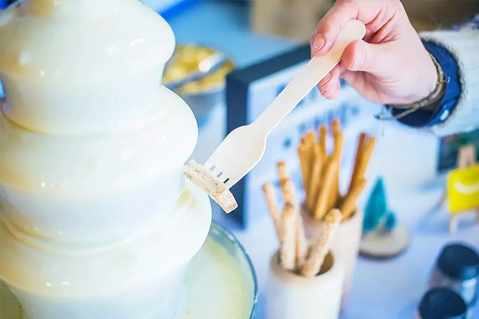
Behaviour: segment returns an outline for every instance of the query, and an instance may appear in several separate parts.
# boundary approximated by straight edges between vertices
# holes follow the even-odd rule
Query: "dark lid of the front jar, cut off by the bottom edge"
[[[419,315],[422,319],[466,319],[467,306],[451,289],[436,287],[423,296]]]

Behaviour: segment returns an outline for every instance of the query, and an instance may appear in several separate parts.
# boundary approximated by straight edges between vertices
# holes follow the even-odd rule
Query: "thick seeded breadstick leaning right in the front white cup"
[[[324,231],[318,242],[313,245],[308,253],[306,263],[301,269],[301,274],[306,277],[314,277],[321,271],[324,258],[329,252],[335,232],[341,223],[341,212],[338,209],[331,210],[324,219]]]

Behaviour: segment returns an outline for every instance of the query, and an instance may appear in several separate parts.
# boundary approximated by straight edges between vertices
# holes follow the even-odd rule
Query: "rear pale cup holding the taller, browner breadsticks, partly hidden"
[[[317,241],[322,233],[323,221],[313,219],[304,205],[302,205],[301,214],[303,216],[306,237],[309,241]],[[341,308],[346,306],[351,289],[356,260],[359,255],[363,216],[363,211],[357,209],[349,219],[342,221],[331,243],[331,251],[336,256],[338,262],[344,265],[345,271]]]

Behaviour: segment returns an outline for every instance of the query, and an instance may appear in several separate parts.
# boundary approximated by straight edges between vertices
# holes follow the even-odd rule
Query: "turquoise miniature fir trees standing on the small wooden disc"
[[[379,227],[383,231],[392,231],[397,226],[396,214],[388,210],[386,187],[383,178],[378,178],[364,209],[362,231],[372,232]]]

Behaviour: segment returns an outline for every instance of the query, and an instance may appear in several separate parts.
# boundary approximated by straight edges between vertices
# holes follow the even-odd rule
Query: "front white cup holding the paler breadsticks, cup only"
[[[276,252],[270,264],[266,319],[337,319],[343,281],[344,268],[332,253],[319,275],[310,278],[284,270]]]

